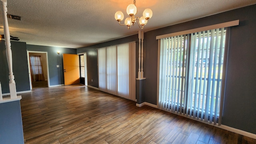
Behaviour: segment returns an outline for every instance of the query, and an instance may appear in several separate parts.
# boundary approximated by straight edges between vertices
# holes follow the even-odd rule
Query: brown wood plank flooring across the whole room
[[[25,144],[256,144],[256,140],[81,85],[22,94]]]

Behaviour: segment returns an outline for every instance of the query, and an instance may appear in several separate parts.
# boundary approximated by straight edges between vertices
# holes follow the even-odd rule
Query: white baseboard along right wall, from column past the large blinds
[[[136,104],[136,106],[138,106],[138,107],[141,107],[141,106],[144,106],[144,105],[151,106],[151,107],[154,107],[154,108],[158,108],[157,105],[150,104],[150,103],[148,103],[148,102],[143,102],[143,103],[141,103],[141,104]],[[173,113],[173,114],[176,114],[176,113]],[[177,115],[184,116],[183,114],[177,114]],[[184,117],[185,117],[185,118],[189,118],[189,117],[186,117],[186,116],[184,116]],[[193,118],[190,118],[190,119],[191,119],[191,120],[196,120],[196,119],[193,119]],[[203,123],[205,123],[205,124],[209,124],[208,122],[204,122],[204,121],[201,121],[201,120],[196,120],[196,121],[198,121],[198,122],[203,122]],[[221,129],[224,129],[224,130],[228,130],[228,131],[230,131],[230,132],[235,132],[235,133],[237,133],[237,134],[241,134],[241,135],[243,135],[243,136],[248,136],[248,137],[250,137],[250,138],[256,139],[256,134],[252,134],[252,133],[250,133],[250,132],[246,132],[246,131],[239,130],[239,129],[232,128],[232,127],[225,126],[225,125],[220,125],[220,126],[218,126],[217,124],[214,125],[214,123],[209,124],[209,125],[212,125],[212,126],[215,126],[215,127],[221,128]]]

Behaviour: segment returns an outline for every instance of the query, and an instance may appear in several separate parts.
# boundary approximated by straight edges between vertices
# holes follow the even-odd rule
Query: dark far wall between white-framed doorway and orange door
[[[60,48],[54,46],[37,46],[27,44],[28,51],[47,52],[50,86],[64,84],[62,54],[76,54],[74,48]],[[60,51],[60,54],[57,54]],[[60,67],[57,68],[57,65]]]

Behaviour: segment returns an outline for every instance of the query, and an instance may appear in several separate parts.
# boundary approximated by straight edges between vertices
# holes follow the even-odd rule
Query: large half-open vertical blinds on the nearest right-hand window
[[[159,108],[218,123],[226,30],[160,39]]]

